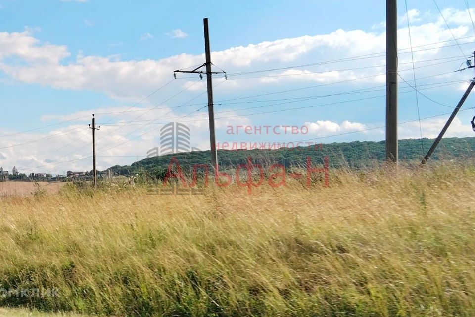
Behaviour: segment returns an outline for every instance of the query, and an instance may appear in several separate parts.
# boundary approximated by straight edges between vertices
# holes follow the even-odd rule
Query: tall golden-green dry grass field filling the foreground
[[[472,317],[474,192],[475,167],[451,165],[338,171],[329,188],[288,181],[251,195],[240,187],[148,195],[136,186],[6,197],[0,288],[58,293],[0,296],[0,306],[115,316]]]

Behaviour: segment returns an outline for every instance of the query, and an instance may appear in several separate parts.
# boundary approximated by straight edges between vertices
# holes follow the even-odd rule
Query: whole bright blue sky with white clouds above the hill
[[[470,55],[475,49],[475,43],[466,44],[475,41],[475,30],[465,2],[436,2],[450,30],[432,0],[407,2],[422,118],[450,112],[473,77],[453,72],[464,62],[460,51]],[[408,48],[403,1],[398,15],[399,48]],[[173,70],[204,62],[203,17],[209,18],[213,62],[230,73],[227,81],[214,78],[218,141],[384,139],[384,129],[377,129],[384,125],[384,76],[376,76],[384,72],[384,54],[377,54],[385,48],[384,1],[0,0],[0,104],[6,118],[0,165],[24,172],[89,170],[91,113],[103,124],[97,133],[100,169],[131,163],[157,146],[157,123],[182,121],[193,145],[209,148],[207,109],[197,111],[206,102],[205,80],[179,75],[136,104],[172,80]],[[363,57],[335,61],[356,56]],[[401,50],[399,60],[401,77],[414,85],[410,50]],[[276,70],[236,75],[266,69]],[[415,120],[415,92],[403,81],[400,87],[399,119]],[[362,89],[368,91],[354,92]],[[335,96],[295,100],[322,95]],[[236,100],[220,102],[229,99]],[[467,106],[474,106],[473,98]],[[461,112],[447,135],[471,136],[473,113]],[[424,119],[423,137],[436,135],[445,119]],[[306,125],[309,133],[226,133],[237,125]],[[419,136],[418,122],[400,126],[401,138]]]

